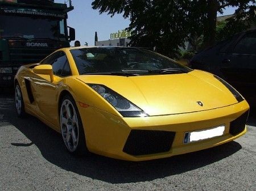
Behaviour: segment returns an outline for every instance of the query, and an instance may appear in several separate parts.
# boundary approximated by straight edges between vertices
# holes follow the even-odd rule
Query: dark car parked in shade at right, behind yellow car
[[[256,29],[237,33],[203,50],[189,65],[225,79],[256,105]]]

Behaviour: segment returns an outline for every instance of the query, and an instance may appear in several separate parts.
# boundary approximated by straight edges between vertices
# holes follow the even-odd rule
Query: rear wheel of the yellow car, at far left
[[[15,83],[15,111],[20,118],[26,116],[22,91],[18,83]]]

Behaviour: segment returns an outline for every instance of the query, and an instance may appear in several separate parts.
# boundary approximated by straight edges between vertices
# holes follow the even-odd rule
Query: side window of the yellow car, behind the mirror
[[[67,77],[68,75],[71,75],[71,69],[69,67],[67,56],[62,51],[52,54],[41,63],[52,65],[53,74],[55,75],[60,77]]]

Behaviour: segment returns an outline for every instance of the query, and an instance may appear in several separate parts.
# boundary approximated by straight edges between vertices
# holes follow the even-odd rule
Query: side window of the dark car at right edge
[[[234,47],[236,54],[256,54],[256,32],[246,34]]]

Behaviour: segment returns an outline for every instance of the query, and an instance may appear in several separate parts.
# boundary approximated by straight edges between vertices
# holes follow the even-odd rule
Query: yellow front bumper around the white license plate
[[[118,117],[93,107],[79,107],[88,150],[111,158],[131,161],[166,158],[203,150],[232,141],[246,133],[246,128],[244,127],[247,119],[247,111],[249,111],[249,105],[245,100],[228,107],[209,111],[152,117]],[[230,124],[232,124],[232,121],[241,117],[242,114],[245,116],[243,117],[244,122],[239,121],[242,123],[242,128],[240,125],[241,129],[233,133],[234,131],[230,129]],[[205,139],[204,141],[183,143],[185,132],[209,129],[221,124],[225,124],[224,135]],[[146,151],[143,151],[143,146],[139,145],[139,137],[137,137],[137,140],[139,139],[137,142],[134,142],[136,139],[130,140],[130,142],[134,142],[134,144],[130,144],[130,147],[133,147],[131,150],[135,148],[135,152],[130,152],[129,149],[126,149],[127,142],[130,139],[129,135],[131,137],[134,131],[149,133],[141,134],[141,142],[145,142],[145,140],[148,142],[144,146]],[[160,135],[154,135],[154,132],[160,133]],[[161,132],[167,132],[169,137],[161,138],[163,136]],[[151,148],[158,149],[158,147],[154,147],[154,144],[163,144],[166,142],[170,145],[170,149],[164,147],[164,150],[160,150],[160,152],[155,152],[154,149],[152,151]],[[136,149],[137,147],[138,149]],[[147,147],[150,147],[149,150],[151,153]],[[137,152],[138,150],[142,152]]]

